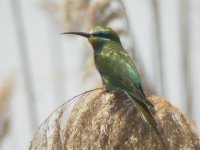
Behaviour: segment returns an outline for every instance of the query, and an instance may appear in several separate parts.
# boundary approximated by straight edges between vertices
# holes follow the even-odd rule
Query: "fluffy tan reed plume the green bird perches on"
[[[196,128],[176,107],[157,96],[148,99],[155,105],[153,114],[170,150],[200,149]],[[74,104],[71,112],[67,103],[56,110],[39,128],[29,149],[163,148],[154,129],[120,92],[92,91]]]

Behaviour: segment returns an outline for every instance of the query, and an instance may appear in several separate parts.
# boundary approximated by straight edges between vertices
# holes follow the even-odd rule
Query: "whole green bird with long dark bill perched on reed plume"
[[[149,109],[154,106],[146,98],[137,68],[124,50],[117,33],[109,27],[94,27],[89,33],[66,32],[63,34],[76,34],[88,39],[94,50],[95,66],[107,91],[120,89],[127,94],[142,119],[156,130],[162,144],[165,145]]]

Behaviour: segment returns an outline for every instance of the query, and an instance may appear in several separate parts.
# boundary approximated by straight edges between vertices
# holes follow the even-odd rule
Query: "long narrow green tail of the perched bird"
[[[167,150],[168,148],[162,138],[160,131],[157,128],[157,123],[156,123],[155,119],[153,118],[151,112],[147,108],[147,106],[145,104],[143,104],[141,101],[135,100],[135,98],[134,98],[133,102],[135,104],[135,107],[137,108],[137,111],[139,112],[140,116],[142,117],[142,119],[156,131],[156,133],[159,136],[160,141],[163,145],[163,149]]]

